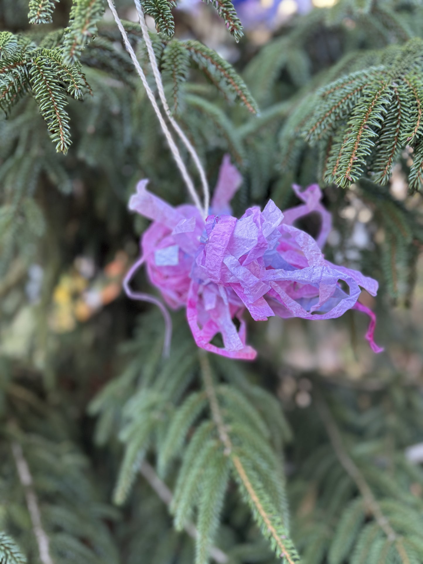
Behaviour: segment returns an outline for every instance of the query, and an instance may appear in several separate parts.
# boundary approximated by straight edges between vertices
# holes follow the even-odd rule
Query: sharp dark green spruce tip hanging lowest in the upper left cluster
[[[56,151],[66,153],[70,146],[69,116],[65,111],[67,98],[60,88],[56,69],[42,56],[32,59],[30,83],[39,110],[46,121]]]

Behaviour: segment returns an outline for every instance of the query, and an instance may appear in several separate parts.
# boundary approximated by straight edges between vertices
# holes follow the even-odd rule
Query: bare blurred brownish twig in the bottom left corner
[[[25,460],[22,447],[19,443],[14,441],[11,446],[17,468],[17,474],[19,475],[19,481],[25,492],[28,512],[32,522],[32,530],[34,531],[34,535],[37,539],[39,559],[42,564],[54,564],[50,556],[50,540],[41,523],[41,513],[39,511],[36,493],[32,487],[33,480],[28,462]]]

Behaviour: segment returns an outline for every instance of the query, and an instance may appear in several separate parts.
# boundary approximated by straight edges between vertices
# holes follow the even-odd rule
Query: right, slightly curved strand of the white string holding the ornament
[[[158,66],[157,66],[156,55],[155,55],[153,45],[152,45],[152,42],[151,42],[151,39],[150,39],[150,36],[149,36],[149,33],[148,33],[146,18],[144,17],[144,12],[142,10],[140,1],[134,0],[134,2],[135,2],[136,11],[138,12],[139,23],[140,23],[140,26],[141,26],[141,29],[142,29],[142,32],[143,32],[143,39],[144,39],[144,42],[146,43],[148,58],[149,58],[151,68],[153,70],[153,75],[154,75],[154,78],[155,78],[155,81],[156,81],[158,95],[160,96],[161,103],[163,104],[163,108],[166,112],[166,115],[169,118],[170,123],[173,126],[173,129],[177,132],[177,134],[179,135],[183,144],[188,149],[188,152],[190,153],[192,160],[195,162],[195,166],[197,167],[197,170],[199,171],[201,184],[202,184],[202,192],[204,194],[204,210],[205,210],[205,214],[208,214],[208,209],[209,209],[209,205],[210,205],[210,190],[209,190],[209,184],[207,182],[207,178],[206,178],[204,168],[202,167],[200,157],[197,155],[195,148],[192,146],[190,140],[184,134],[182,129],[179,127],[178,122],[174,119],[174,117],[172,116],[172,114],[170,112],[168,100],[166,100],[165,91],[164,91],[163,83],[162,83],[161,76],[160,76],[160,70],[158,70]]]

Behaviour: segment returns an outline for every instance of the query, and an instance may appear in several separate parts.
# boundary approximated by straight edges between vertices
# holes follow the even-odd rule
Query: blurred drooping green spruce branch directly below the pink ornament
[[[142,335],[146,341],[145,332]],[[160,347],[158,356],[144,350],[140,358],[148,359],[144,363],[146,369],[135,390],[130,382],[135,382],[139,360],[92,403],[91,413],[100,415],[99,425],[103,426],[103,420],[109,421],[109,416],[116,413],[116,402],[122,402],[119,436],[125,444],[125,453],[114,499],[123,503],[129,496],[149,451],[157,453],[161,479],[174,467],[175,459],[180,459],[170,510],[177,530],[195,523],[196,564],[206,564],[232,475],[235,481],[240,481],[241,496],[245,495],[247,504],[253,504],[250,509],[257,513],[258,524],[266,527],[266,537],[270,523],[269,538],[271,544],[276,543],[277,554],[284,550],[294,562],[296,553],[287,534],[284,477],[278,454],[277,437],[281,434],[280,425],[284,425],[280,408],[270,394],[249,384],[243,371],[228,373],[227,384],[212,382],[212,390],[205,387],[205,382],[209,386],[206,374],[203,385],[189,391],[200,367],[195,345],[186,337],[185,327],[175,330],[173,351],[165,361],[160,360]],[[231,366],[219,363],[215,368],[224,377]],[[126,390],[123,397],[121,392],[121,399],[116,395],[119,389]],[[197,491],[202,492],[200,496],[196,495]]]

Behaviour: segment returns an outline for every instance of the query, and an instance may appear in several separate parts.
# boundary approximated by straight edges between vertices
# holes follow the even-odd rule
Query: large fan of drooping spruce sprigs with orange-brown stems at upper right
[[[402,49],[375,53],[381,65],[358,70],[320,89],[303,135],[321,151],[325,182],[349,186],[369,174],[386,184],[404,147],[422,134],[423,42],[414,38]],[[287,132],[286,144],[294,130]],[[420,162],[413,161],[411,187],[418,188]]]

